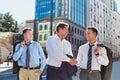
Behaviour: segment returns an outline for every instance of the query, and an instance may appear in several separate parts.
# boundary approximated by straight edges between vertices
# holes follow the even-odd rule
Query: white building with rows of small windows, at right
[[[87,0],[87,26],[98,29],[98,40],[105,43],[117,55],[117,12],[110,6],[111,0]],[[107,1],[107,2],[106,2]],[[109,2],[108,2],[109,1]]]

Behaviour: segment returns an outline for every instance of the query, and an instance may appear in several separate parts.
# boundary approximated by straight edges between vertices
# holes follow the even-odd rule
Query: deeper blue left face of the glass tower
[[[51,4],[51,0],[36,0],[35,5],[35,19],[41,20],[45,17],[50,16],[51,5],[53,6],[52,17],[55,18],[55,0]]]

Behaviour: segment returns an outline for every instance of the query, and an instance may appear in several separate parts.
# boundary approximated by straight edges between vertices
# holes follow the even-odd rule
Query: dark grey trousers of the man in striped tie
[[[100,72],[80,72],[80,80],[101,80]]]

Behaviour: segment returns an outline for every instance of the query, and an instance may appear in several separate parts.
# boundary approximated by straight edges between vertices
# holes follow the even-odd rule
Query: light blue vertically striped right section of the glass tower
[[[85,26],[85,16],[86,16],[86,0],[71,0],[72,10],[71,10],[71,20],[81,26]]]

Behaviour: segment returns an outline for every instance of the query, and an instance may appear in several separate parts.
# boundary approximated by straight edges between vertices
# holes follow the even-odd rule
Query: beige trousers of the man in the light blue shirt
[[[35,70],[20,68],[19,80],[40,80],[40,75]]]

